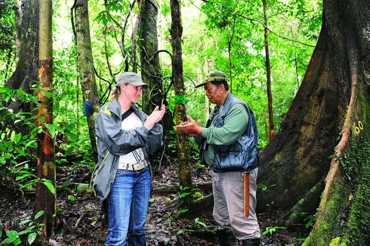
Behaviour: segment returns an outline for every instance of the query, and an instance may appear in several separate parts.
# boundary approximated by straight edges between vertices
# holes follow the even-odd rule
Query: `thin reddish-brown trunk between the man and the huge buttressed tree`
[[[266,51],[266,74],[267,74],[267,99],[268,99],[268,119],[270,125],[269,139],[275,136],[275,125],[274,125],[274,113],[272,111],[272,93],[271,93],[271,66],[270,66],[270,54],[268,50],[268,30],[267,30],[267,14],[266,14],[266,1],[262,0],[263,3],[263,17],[264,17],[264,46]]]

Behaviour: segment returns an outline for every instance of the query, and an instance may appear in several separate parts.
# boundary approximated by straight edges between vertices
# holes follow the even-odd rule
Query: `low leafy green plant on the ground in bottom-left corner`
[[[45,211],[41,210],[41,211],[37,212],[34,219],[22,220],[19,223],[19,226],[25,226],[25,230],[20,231],[20,232],[17,232],[17,231],[14,231],[14,230],[6,232],[6,237],[7,238],[4,239],[1,242],[0,245],[19,245],[19,244],[22,243],[20,236],[24,235],[24,234],[28,234],[27,242],[30,245],[32,245],[35,242],[35,240],[37,238],[37,235],[42,238],[43,242],[46,243],[46,239],[42,235],[42,230],[43,230],[44,224],[37,223],[37,221],[36,221],[44,213],[45,213]],[[1,236],[1,234],[0,234],[0,236]]]

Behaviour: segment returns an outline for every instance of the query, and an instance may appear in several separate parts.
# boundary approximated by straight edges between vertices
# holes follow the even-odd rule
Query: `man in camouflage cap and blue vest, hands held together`
[[[255,212],[259,165],[255,116],[244,101],[229,92],[223,72],[209,73],[196,87],[203,85],[208,99],[216,104],[206,126],[201,127],[200,120],[196,123],[187,116],[189,121],[176,129],[200,142],[200,161],[212,166],[213,217],[219,224],[222,245],[233,245],[226,236],[232,234],[243,246],[259,246]]]

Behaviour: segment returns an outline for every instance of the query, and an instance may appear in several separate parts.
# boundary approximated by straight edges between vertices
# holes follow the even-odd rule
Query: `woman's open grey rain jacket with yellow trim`
[[[148,115],[133,104],[131,109],[144,124]],[[118,99],[114,99],[101,107],[95,123],[99,158],[91,177],[91,188],[101,201],[105,200],[111,191],[119,156],[142,148],[150,165],[148,154],[158,151],[163,145],[163,129],[160,124],[156,123],[150,131],[145,126],[123,130],[121,117]]]

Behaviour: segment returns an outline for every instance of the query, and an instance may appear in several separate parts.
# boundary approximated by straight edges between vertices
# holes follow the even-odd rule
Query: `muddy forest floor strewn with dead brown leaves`
[[[178,184],[178,171],[175,163],[162,163],[160,171],[153,171],[154,190]],[[197,164],[192,164],[193,180],[195,184],[211,182],[211,176],[207,168],[197,168]],[[158,170],[153,166],[153,170]],[[66,183],[89,183],[91,169],[74,165],[68,168],[57,169],[57,185]],[[73,187],[71,187],[73,188]],[[4,190],[4,189],[1,189]],[[208,195],[211,191],[201,190],[203,195]],[[74,196],[74,201],[68,199],[69,195]],[[153,199],[149,204],[148,217],[146,223],[147,245],[184,245],[184,246],[218,246],[217,224],[212,217],[212,207],[204,207],[194,214],[186,214],[182,219],[168,223],[167,219],[176,211],[181,210],[184,205],[180,205],[179,193],[154,193]],[[0,229],[1,231],[25,230],[19,226],[22,220],[29,219],[32,214],[35,197],[31,194],[18,193],[17,196],[6,192],[0,193]],[[58,222],[55,233],[40,245],[52,246],[98,246],[104,245],[107,236],[107,225],[104,223],[104,212],[102,203],[94,198],[91,193],[77,194],[76,189],[72,193],[66,189],[57,189]],[[261,232],[266,227],[284,227],[283,222],[279,221],[283,211],[258,214]],[[207,230],[195,219],[207,225]],[[304,228],[304,227],[303,227]],[[179,230],[182,234],[176,236]],[[298,246],[299,241],[308,235],[308,231],[296,232],[286,229],[276,229],[272,234],[268,233],[261,237],[261,246]],[[182,232],[182,231],[180,231]],[[23,235],[21,245],[29,245],[27,235]],[[21,237],[22,238],[22,237]],[[0,242],[5,239],[3,233]],[[297,240],[298,239],[298,240]],[[178,241],[183,241],[181,244]]]

